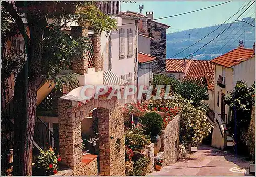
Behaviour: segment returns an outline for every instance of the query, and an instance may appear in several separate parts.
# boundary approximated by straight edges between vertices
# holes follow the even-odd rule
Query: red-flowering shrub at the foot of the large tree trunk
[[[61,161],[59,155],[55,155],[54,150],[50,147],[48,150],[40,150],[37,157],[34,172],[37,175],[53,175],[56,174],[58,164]]]

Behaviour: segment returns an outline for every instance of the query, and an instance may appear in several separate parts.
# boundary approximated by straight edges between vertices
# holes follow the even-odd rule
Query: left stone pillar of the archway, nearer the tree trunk
[[[59,100],[59,153],[62,162],[72,170],[79,166],[82,157],[82,126],[79,107],[72,107],[71,100]]]

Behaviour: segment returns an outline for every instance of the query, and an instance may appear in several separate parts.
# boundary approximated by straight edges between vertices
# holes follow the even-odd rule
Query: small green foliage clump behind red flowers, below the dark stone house
[[[156,85],[170,85],[171,92],[177,92],[180,82],[174,77],[168,77],[164,74],[156,74],[153,77],[153,86]]]

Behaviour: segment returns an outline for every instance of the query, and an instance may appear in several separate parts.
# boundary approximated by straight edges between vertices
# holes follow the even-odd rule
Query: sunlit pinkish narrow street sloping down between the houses
[[[245,171],[246,170],[246,174]],[[248,176],[249,162],[241,157],[202,145],[196,153],[175,164],[168,164],[161,171],[150,175],[159,176]]]

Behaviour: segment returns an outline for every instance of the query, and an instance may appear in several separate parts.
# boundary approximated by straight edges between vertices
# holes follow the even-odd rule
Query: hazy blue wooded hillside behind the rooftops
[[[255,18],[248,17],[244,18],[244,20],[255,25]],[[214,39],[225,28],[227,28],[229,24],[224,24],[222,27],[204,38],[202,41],[193,45],[189,49],[186,49],[184,52],[173,58],[183,58],[195,52],[197,49],[204,46],[210,40]],[[199,41],[204,36],[209,34],[211,31],[214,31],[219,26],[220,25],[204,28],[195,28],[186,31],[166,34],[166,58],[170,58],[175,54],[181,52],[183,49],[190,45],[189,43],[191,43],[191,45],[194,44],[195,42]],[[237,48],[239,46],[239,40],[245,41],[246,48],[252,48],[253,43],[255,42],[255,28],[244,22],[235,22],[218,38],[216,38],[214,41],[212,41],[207,46],[203,47],[197,53],[195,53],[194,58],[210,60],[216,56],[219,56],[220,54],[224,54],[229,50]]]

